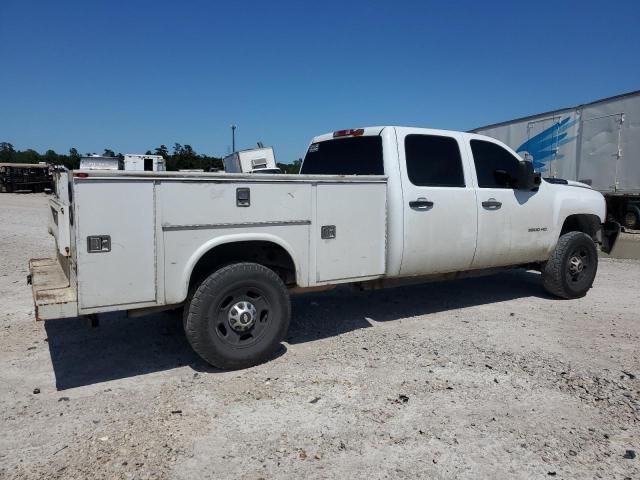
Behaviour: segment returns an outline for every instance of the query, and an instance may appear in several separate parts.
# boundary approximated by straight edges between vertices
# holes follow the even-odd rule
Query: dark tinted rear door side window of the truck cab
[[[420,187],[464,187],[460,148],[455,138],[407,135],[404,140],[409,180]]]

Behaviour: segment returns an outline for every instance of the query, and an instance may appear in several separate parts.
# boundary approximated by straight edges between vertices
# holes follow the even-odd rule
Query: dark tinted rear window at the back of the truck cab
[[[349,137],[312,143],[304,157],[301,174],[384,175],[382,138]]]

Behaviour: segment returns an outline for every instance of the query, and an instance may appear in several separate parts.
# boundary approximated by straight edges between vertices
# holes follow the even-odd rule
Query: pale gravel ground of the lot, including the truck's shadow
[[[640,478],[636,260],[573,301],[524,271],[296,296],[283,355],[218,372],[168,314],[35,323],[46,201],[0,196],[0,478]]]

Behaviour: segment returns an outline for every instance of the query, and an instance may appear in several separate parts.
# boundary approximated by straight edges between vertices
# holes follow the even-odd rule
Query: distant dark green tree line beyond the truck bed
[[[70,170],[80,168],[80,159],[83,156],[96,155],[95,152],[81,155],[76,148],[70,148],[69,153],[56,153],[54,150],[47,150],[39,153],[33,149],[16,150],[9,142],[0,142],[0,163],[39,163],[45,162],[49,165],[63,165]],[[101,153],[104,157],[114,157],[123,159],[122,153],[115,153],[109,148],[105,148]],[[222,158],[211,157],[206,154],[197,153],[191,145],[173,145],[172,151],[166,145],[160,145],[153,150],[147,150],[145,155],[161,155],[167,166],[167,170],[176,171],[182,169],[202,169],[205,172],[211,169],[222,170]],[[278,167],[283,173],[298,173],[300,170],[300,159],[293,163],[280,163]]]

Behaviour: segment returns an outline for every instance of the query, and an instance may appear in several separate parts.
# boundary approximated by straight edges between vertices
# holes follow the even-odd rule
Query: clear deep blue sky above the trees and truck
[[[0,141],[279,161],[316,134],[467,130],[640,88],[640,1],[0,0]]]

